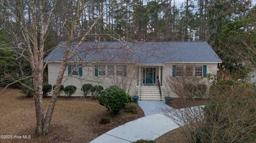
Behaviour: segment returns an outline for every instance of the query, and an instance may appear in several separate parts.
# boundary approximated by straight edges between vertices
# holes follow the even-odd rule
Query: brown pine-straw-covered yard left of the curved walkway
[[[43,99],[45,112],[50,99]],[[121,111],[117,116],[110,116],[95,99],[86,98],[85,102],[80,97],[59,98],[52,116],[51,132],[45,137],[37,137],[33,98],[25,97],[18,89],[6,89],[0,94],[0,135],[30,135],[31,139],[0,139],[0,142],[90,142],[108,130],[144,116],[138,105],[137,108],[138,114]],[[111,122],[100,124],[102,116],[109,117]]]

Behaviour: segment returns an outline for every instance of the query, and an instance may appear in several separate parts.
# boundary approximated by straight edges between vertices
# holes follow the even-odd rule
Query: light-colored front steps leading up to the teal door
[[[162,90],[162,100],[163,100],[164,95],[163,95],[162,87],[161,87],[161,90]],[[160,92],[157,86],[137,87],[137,95],[141,98],[141,100],[161,100]]]

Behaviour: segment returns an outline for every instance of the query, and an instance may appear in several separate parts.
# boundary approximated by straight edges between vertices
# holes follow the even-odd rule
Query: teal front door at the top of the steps
[[[143,85],[156,83],[156,68],[143,68]]]

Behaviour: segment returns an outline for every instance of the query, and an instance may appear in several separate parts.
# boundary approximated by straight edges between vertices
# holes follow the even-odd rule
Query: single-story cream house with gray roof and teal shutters
[[[49,84],[54,85],[66,42],[60,42],[44,59],[48,64]],[[116,85],[141,99],[160,99],[166,91],[166,78],[186,75],[206,77],[217,74],[221,59],[206,41],[168,42],[83,42],[77,49],[74,42],[63,85],[77,87],[82,95],[84,83]],[[170,95],[175,96],[175,95]]]

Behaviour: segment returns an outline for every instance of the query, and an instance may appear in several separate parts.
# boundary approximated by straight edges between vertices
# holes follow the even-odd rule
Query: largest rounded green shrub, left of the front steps
[[[128,103],[128,99],[123,89],[111,86],[100,93],[99,103],[110,113],[117,114]]]

